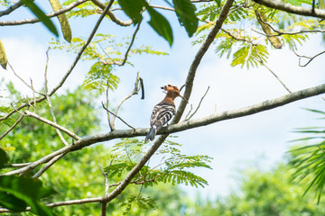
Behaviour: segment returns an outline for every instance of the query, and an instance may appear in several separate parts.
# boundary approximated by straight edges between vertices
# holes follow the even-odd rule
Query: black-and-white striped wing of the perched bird
[[[175,114],[175,105],[172,103],[158,103],[153,107],[150,126],[160,130]],[[155,127],[154,127],[155,126]]]

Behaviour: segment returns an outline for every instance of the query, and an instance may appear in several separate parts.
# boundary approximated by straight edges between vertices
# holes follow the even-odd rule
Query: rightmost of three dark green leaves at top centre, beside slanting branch
[[[199,25],[199,20],[195,15],[195,5],[190,0],[172,0],[172,3],[179,22],[185,27],[189,37],[193,36]]]

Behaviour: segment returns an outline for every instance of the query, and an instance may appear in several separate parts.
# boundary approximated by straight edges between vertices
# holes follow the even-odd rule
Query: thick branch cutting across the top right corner
[[[312,11],[312,8],[306,8],[302,6],[294,6],[292,4],[284,3],[280,0],[254,0],[255,3],[263,4],[267,7],[271,7],[277,10],[281,10],[290,14],[299,14],[304,16],[312,16],[312,17],[318,17],[321,19],[325,19],[325,11],[314,9],[314,12]]]

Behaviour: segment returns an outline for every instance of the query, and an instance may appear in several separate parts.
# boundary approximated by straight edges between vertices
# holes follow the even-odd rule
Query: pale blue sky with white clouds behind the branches
[[[40,1],[36,1],[39,3]],[[46,1],[44,1],[46,2]],[[48,3],[42,2],[43,8],[48,9]],[[2,8],[0,8],[2,9]],[[22,13],[24,11],[24,13]],[[119,17],[126,20],[125,16],[118,13]],[[140,100],[140,95],[135,95],[126,101],[122,107],[120,116],[134,127],[144,128],[149,126],[149,119],[156,103],[163,99],[161,86],[172,84],[181,86],[184,84],[190,64],[200,46],[192,46],[184,29],[175,22],[176,17],[166,14],[172,23],[174,43],[172,48],[159,37],[147,23],[143,23],[137,35],[135,46],[147,44],[153,49],[169,53],[165,57],[140,55],[133,56],[130,60],[134,67],[117,67],[116,75],[121,82],[116,92],[112,93],[112,103],[118,103],[121,98],[134,88],[135,76],[140,72],[144,78],[145,100]],[[32,17],[26,8],[16,11],[10,16],[0,17],[0,21],[17,20],[23,17]],[[98,16],[90,17],[82,23],[77,19],[70,19],[70,25],[74,37],[88,37],[95,25]],[[59,24],[52,19],[58,28]],[[146,20],[147,21],[147,20]],[[115,24],[103,22],[98,32],[116,34],[125,37],[134,31],[133,27],[116,27]],[[47,31],[41,23],[26,24],[23,26],[0,27],[0,40],[2,40],[7,58],[17,74],[24,80],[32,83],[35,88],[42,88],[44,68],[46,62],[45,52],[48,41],[54,36]],[[59,40],[62,41],[60,36]],[[214,53],[214,47],[210,47],[208,53],[202,59],[194,88],[190,97],[193,107],[199,103],[200,98],[209,86],[209,92],[204,98],[199,112],[193,118],[204,117],[213,112],[239,109],[261,103],[267,99],[287,94],[282,85],[271,75],[265,67],[251,68],[230,67],[230,60],[219,58]],[[298,53],[312,56],[324,49],[320,36],[311,36]],[[63,50],[50,50],[49,85],[50,88],[60,82],[60,78],[67,72],[75,55]],[[267,65],[280,76],[292,91],[298,91],[314,85],[323,84],[325,76],[322,62],[325,56],[315,58],[308,67],[299,67],[298,58],[286,47],[271,50]],[[91,64],[79,61],[71,76],[60,89],[58,94],[67,89],[73,89],[80,85],[88,72]],[[23,86],[11,70],[0,69],[0,78],[12,80],[15,86],[23,94],[31,94],[31,91]],[[0,94],[5,94],[5,86],[0,86]],[[104,97],[103,97],[103,100]],[[94,101],[94,103],[99,103]],[[180,99],[176,99],[176,105]],[[288,141],[301,137],[292,130],[298,127],[320,126],[317,115],[307,112],[302,108],[322,109],[324,100],[321,96],[304,99],[290,103],[271,111],[260,112],[251,116],[237,118],[228,121],[219,121],[199,129],[181,131],[177,139],[182,144],[183,154],[208,155],[214,159],[211,162],[213,169],[197,169],[195,174],[207,179],[209,185],[205,188],[182,188],[190,194],[201,193],[211,199],[227,195],[238,186],[238,170],[247,166],[256,166],[263,170],[269,170],[276,163],[283,161],[285,152],[292,145]],[[104,111],[103,111],[104,113]],[[58,118],[58,117],[57,117]],[[58,120],[60,121],[60,119]],[[125,129],[125,125],[116,122],[116,128]],[[108,131],[103,127],[101,132]],[[111,143],[108,142],[107,145]]]

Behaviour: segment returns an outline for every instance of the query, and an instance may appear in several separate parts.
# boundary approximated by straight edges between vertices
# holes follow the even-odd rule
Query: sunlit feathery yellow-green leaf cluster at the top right
[[[301,5],[308,1],[292,0],[291,2]],[[198,36],[201,36],[194,40],[193,44],[201,43],[205,39],[205,32],[216,23],[224,3],[225,1],[218,1],[201,6],[197,15],[204,23],[197,31]],[[256,12],[265,16],[265,23],[258,20]],[[225,22],[227,25],[224,25],[225,31],[219,32],[214,41],[215,52],[219,57],[231,58],[232,67],[259,67],[267,60],[270,49],[280,49],[286,46],[291,50],[296,50],[298,45],[302,45],[302,42],[309,38],[306,33],[292,34],[292,32],[321,28],[321,24],[316,19],[292,20],[284,28],[283,19],[285,20],[286,16],[283,15],[285,13],[255,4],[253,1],[237,1],[230,9]],[[290,15],[288,18],[291,17]],[[274,31],[276,29],[278,30]],[[277,43],[275,44],[274,41]]]

